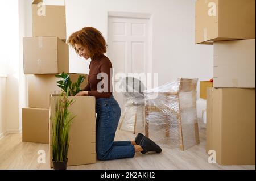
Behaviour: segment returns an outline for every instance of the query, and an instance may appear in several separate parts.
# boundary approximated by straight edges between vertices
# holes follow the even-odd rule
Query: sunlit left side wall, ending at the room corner
[[[19,130],[19,15],[18,1],[8,1],[0,9],[1,23],[1,60],[6,62],[5,118],[2,133]],[[1,134],[1,132],[0,132]]]

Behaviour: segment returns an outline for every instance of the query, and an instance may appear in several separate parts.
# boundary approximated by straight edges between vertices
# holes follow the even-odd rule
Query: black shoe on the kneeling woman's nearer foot
[[[150,140],[150,138],[147,138],[146,136],[143,136],[139,145],[141,145],[143,148],[143,151],[141,151],[142,154],[145,154],[149,151],[155,151],[156,153],[162,152],[160,146],[158,146],[154,141]]]

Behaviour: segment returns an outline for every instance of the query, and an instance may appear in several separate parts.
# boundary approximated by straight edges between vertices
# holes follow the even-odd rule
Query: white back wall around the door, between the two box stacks
[[[67,36],[92,26],[108,40],[108,11],[152,14],[152,71],[159,85],[178,77],[212,78],[212,45],[194,43],[195,0],[66,0]],[[69,54],[71,71],[88,73],[89,61]]]

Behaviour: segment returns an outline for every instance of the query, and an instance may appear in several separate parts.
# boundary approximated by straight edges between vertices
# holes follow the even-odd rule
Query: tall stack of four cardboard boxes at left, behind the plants
[[[65,6],[34,1],[32,28],[33,37],[23,38],[29,108],[22,109],[22,140],[49,144],[49,95],[61,91],[55,74],[69,72]]]

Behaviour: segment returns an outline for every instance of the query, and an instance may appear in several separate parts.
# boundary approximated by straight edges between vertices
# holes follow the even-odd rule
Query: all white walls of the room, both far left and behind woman
[[[2,29],[5,33],[1,33],[5,35],[2,37],[13,41],[7,41],[9,44],[5,46],[5,52],[9,53],[6,60],[9,68],[5,82],[6,100],[1,100],[2,105],[5,101],[6,104],[5,117],[4,114],[0,116],[0,134],[3,130],[19,131],[22,127],[21,111],[27,107],[22,37],[32,36],[31,3],[32,0],[23,0],[19,1],[19,6],[15,3],[11,7],[2,6],[9,9],[10,14],[19,10],[19,28],[17,25],[11,30]],[[159,85],[177,77],[197,77],[199,81],[212,78],[213,47],[194,44],[195,0],[66,0],[67,38],[82,27],[92,26],[108,40],[109,11],[152,14],[152,71],[159,73]],[[16,18],[11,19],[8,14],[5,17],[9,17],[5,18],[8,22],[16,22]],[[19,43],[15,43],[16,40]],[[77,56],[74,50],[70,50],[69,57],[71,72],[89,72],[89,61]]]

